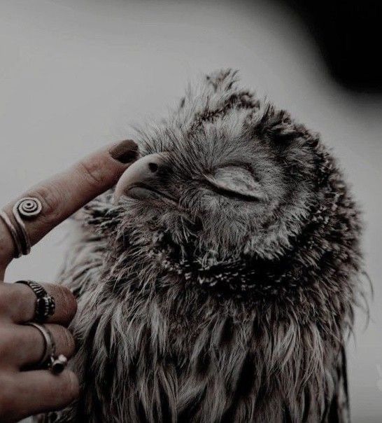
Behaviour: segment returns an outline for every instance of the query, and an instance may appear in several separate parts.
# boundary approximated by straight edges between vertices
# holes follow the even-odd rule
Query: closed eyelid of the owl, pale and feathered
[[[239,166],[225,166],[216,169],[213,174],[204,175],[208,184],[222,195],[246,197],[246,200],[261,200],[266,194],[248,170]]]

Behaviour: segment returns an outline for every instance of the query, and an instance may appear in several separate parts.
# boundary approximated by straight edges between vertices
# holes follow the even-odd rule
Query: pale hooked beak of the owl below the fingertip
[[[149,154],[132,163],[115,186],[114,204],[118,204],[122,195],[139,199],[169,198],[167,193],[157,189],[160,186],[159,175],[164,168],[164,159],[167,155],[168,153]]]

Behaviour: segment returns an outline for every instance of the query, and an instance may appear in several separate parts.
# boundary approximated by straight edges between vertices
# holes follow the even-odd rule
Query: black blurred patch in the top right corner
[[[382,93],[381,1],[281,1],[302,17],[338,83]]]

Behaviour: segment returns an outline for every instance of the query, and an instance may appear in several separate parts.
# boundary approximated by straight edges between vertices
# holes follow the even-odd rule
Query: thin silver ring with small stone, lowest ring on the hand
[[[55,373],[55,375],[61,373],[66,367],[68,359],[66,359],[64,354],[59,354],[59,356],[56,355],[56,344],[52,333],[50,333],[49,329],[45,325],[34,323],[34,321],[29,321],[26,325],[33,326],[38,329],[44,339],[44,354],[36,366],[38,368],[47,368],[52,373]]]

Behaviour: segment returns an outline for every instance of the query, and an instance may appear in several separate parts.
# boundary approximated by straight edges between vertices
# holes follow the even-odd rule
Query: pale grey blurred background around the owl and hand
[[[244,83],[318,130],[365,210],[372,319],[350,348],[354,422],[382,421],[380,97],[335,85],[302,22],[272,2],[0,0],[0,195],[32,183],[166,113],[197,74]],[[65,228],[13,263],[8,280],[51,281]]]

